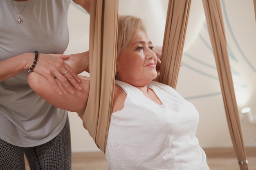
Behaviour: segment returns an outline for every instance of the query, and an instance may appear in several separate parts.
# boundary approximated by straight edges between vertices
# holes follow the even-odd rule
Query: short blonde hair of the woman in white
[[[146,32],[143,21],[132,15],[120,15],[118,18],[118,35],[117,35],[117,57],[137,35],[139,29]]]

